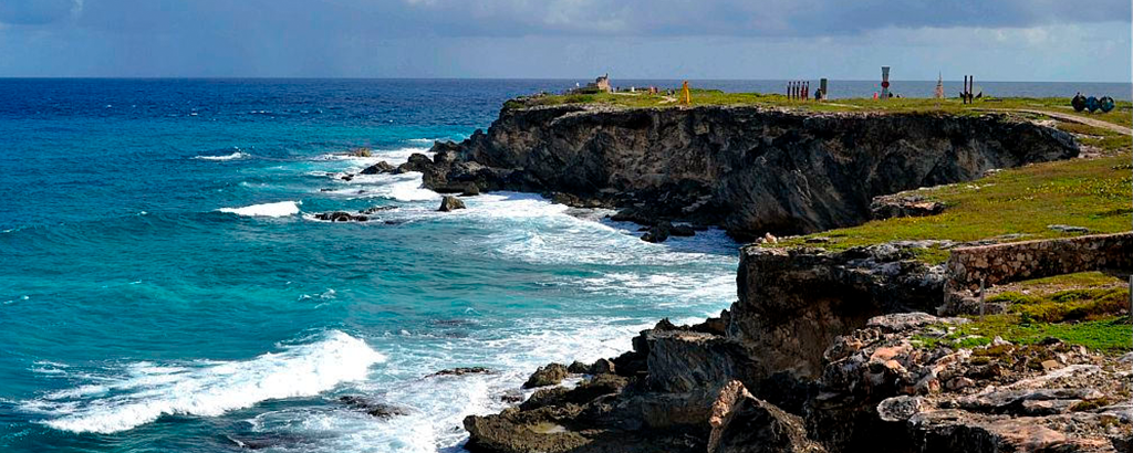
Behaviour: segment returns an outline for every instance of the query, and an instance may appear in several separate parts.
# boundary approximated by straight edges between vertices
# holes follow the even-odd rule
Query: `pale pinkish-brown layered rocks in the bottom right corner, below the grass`
[[[827,351],[806,417],[830,451],[1117,452],[1133,433],[1133,410],[1117,403],[1130,375],[1113,358],[1057,340],[945,349],[923,339],[963,319],[891,318]]]

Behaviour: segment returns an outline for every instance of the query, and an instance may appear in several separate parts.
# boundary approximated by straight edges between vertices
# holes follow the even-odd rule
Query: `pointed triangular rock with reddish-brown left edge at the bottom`
[[[712,408],[708,453],[825,453],[802,419],[748,393],[732,381]]]

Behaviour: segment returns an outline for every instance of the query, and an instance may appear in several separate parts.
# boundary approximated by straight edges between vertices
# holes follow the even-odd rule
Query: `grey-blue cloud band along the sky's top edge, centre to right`
[[[878,28],[1033,27],[1130,18],[1127,0],[403,0],[444,34],[821,36]]]

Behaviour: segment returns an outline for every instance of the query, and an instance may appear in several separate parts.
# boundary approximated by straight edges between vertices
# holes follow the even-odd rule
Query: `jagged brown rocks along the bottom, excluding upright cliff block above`
[[[729,314],[667,322],[576,387],[468,417],[474,452],[1128,452],[1130,360],[1051,340],[926,347],[962,318],[894,314],[840,336],[821,375],[751,374]],[[612,365],[610,365],[612,364]],[[536,373],[565,368],[551,365]],[[564,377],[556,376],[557,379]]]

